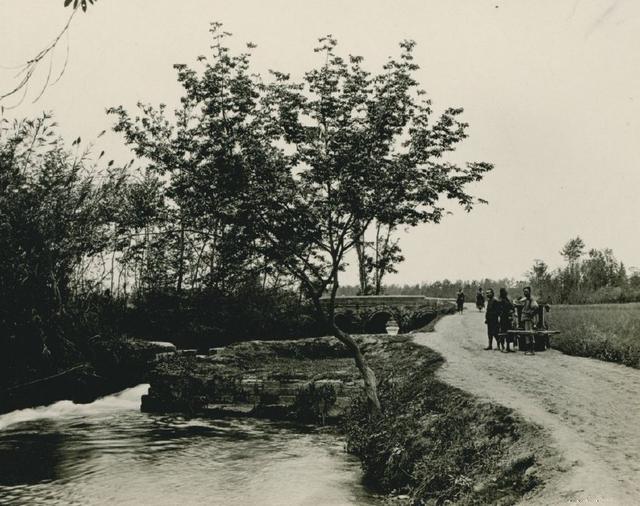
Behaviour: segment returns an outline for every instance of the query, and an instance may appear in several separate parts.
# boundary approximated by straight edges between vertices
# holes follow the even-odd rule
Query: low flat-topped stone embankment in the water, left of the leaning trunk
[[[379,347],[389,336],[358,337]],[[362,391],[348,350],[332,337],[249,341],[213,348],[208,355],[179,352],[160,357],[149,376],[147,412],[326,422],[337,419]]]

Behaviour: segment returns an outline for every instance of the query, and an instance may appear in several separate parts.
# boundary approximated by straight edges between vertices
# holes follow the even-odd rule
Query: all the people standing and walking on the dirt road
[[[495,349],[505,353],[513,351],[511,345],[514,344],[514,336],[509,330],[514,328],[514,317],[516,315],[516,306],[519,307],[519,323],[522,330],[534,330],[534,321],[538,315],[538,303],[531,296],[531,287],[527,286],[523,289],[523,297],[515,304],[509,299],[507,289],[500,288],[500,293],[496,299],[492,288],[488,288],[484,293],[482,288],[478,288],[476,294],[476,307],[479,311],[485,308],[485,324],[487,325],[488,344],[485,350]],[[462,314],[464,309],[465,295],[462,289],[458,291],[456,304],[458,312]],[[514,344],[515,345],[515,344]],[[533,347],[528,353],[533,353]]]

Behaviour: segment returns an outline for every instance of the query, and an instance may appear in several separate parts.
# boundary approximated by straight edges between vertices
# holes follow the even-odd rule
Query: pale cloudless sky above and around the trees
[[[68,20],[63,0],[0,0],[0,94],[14,67],[51,42]],[[471,190],[489,201],[440,224],[399,232],[405,262],[389,283],[448,278],[521,278],[535,259],[562,265],[579,235],[640,268],[640,2],[635,0],[98,0],[78,12],[53,56],[61,79],[32,103],[48,62],[6,118],[52,111],[60,133],[94,141],[126,162],[110,106],[177,103],[174,63],[195,64],[210,46],[209,23],[254,42],[253,67],[300,77],[313,47],[333,34],[371,71],[417,42],[418,80],[435,109],[465,110],[469,138],[456,157],[495,169]],[[15,108],[9,109],[12,106]],[[342,283],[355,283],[355,266]]]

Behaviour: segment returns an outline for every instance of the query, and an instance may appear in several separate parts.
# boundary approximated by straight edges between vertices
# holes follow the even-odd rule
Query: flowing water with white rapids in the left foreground
[[[378,504],[334,435],[148,415],[147,388],[0,415],[0,504]]]

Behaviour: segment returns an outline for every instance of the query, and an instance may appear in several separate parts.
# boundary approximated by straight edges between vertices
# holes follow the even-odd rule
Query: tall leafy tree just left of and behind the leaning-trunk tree
[[[168,257],[168,286],[178,292],[204,284],[226,293],[271,272],[239,196],[275,138],[265,128],[249,52],[232,55],[229,34],[217,23],[211,31],[211,55],[198,58],[202,71],[175,65],[184,93],[173,115],[163,105],[139,104],[136,115],[109,109],[162,195],[162,212],[149,213],[134,232],[144,230],[144,244]]]

